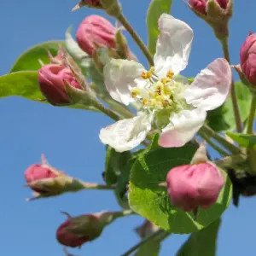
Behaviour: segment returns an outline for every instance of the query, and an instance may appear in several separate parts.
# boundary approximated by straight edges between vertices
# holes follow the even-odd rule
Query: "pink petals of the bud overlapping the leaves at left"
[[[58,64],[48,64],[38,71],[40,90],[52,105],[70,104],[71,99],[67,95],[66,84],[74,88],[82,89],[71,70]]]

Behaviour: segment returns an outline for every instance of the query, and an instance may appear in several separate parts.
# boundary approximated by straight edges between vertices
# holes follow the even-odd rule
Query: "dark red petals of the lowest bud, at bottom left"
[[[57,240],[64,246],[67,247],[81,247],[84,242],[89,241],[88,236],[76,235],[68,228],[73,228],[71,218],[68,218],[56,232]]]

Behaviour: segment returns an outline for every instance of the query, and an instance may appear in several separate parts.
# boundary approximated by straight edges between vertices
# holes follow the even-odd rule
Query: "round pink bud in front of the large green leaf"
[[[224,177],[210,163],[177,166],[166,177],[167,192],[174,207],[186,212],[207,209],[218,199]]]

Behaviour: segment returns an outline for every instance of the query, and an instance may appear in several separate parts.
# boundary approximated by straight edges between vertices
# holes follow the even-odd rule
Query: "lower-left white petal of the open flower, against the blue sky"
[[[100,132],[102,143],[108,144],[117,152],[137,147],[151,129],[152,115],[139,115],[123,119],[103,128]]]

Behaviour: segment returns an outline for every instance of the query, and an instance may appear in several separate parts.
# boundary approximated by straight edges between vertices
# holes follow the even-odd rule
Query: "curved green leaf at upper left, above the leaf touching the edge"
[[[10,73],[22,70],[38,70],[41,67],[38,60],[40,59],[44,64],[49,63],[48,51],[50,51],[52,55],[56,55],[60,44],[63,45],[63,42],[49,41],[27,49],[26,52],[17,59]]]

